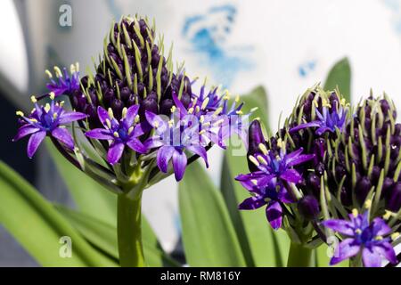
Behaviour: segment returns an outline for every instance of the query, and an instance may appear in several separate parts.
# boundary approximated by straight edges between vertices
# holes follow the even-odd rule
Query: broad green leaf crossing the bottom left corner
[[[65,220],[37,190],[0,161],[0,223],[44,266],[116,266]],[[62,258],[61,237],[72,241],[72,257]]]

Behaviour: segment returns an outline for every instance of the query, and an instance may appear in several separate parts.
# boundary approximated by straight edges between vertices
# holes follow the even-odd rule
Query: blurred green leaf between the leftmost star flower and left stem
[[[47,148],[80,212],[111,225],[117,223],[117,197],[101,184],[74,167],[48,142]]]

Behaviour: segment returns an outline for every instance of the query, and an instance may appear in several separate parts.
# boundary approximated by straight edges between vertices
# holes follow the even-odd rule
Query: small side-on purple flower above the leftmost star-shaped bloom
[[[49,70],[46,70],[46,73],[50,78],[50,83],[46,85],[47,89],[53,92],[56,96],[62,94],[73,94],[74,91],[79,90],[80,88],[78,69],[78,63],[76,65],[71,65],[70,74],[66,68],[63,68],[61,73],[61,69],[54,67],[55,79],[53,78],[52,73]]]

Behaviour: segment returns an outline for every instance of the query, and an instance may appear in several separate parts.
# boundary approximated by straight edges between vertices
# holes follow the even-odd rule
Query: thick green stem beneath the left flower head
[[[144,267],[141,224],[142,192],[135,199],[127,194],[118,198],[119,264],[122,267]]]

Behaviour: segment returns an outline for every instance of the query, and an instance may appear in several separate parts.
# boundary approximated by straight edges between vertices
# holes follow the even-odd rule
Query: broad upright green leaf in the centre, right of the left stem
[[[221,192],[199,162],[187,167],[178,200],[189,265],[246,265]]]

